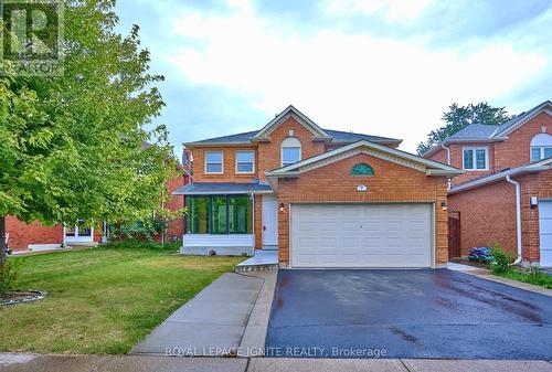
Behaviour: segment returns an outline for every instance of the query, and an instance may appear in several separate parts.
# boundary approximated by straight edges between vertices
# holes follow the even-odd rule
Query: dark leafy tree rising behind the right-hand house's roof
[[[432,130],[427,135],[426,142],[420,142],[417,146],[417,153],[423,155],[470,124],[500,125],[511,118],[505,107],[492,107],[488,103],[467,106],[452,104],[448,111],[443,113],[442,120],[445,121],[445,126]]]

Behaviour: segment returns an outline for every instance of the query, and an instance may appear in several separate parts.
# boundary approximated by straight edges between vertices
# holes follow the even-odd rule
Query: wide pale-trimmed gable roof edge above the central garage
[[[317,155],[312,158],[301,160],[294,164],[272,170],[269,172],[266,172],[265,174],[267,178],[297,177],[302,172],[316,168],[316,164],[325,166],[361,152],[388,161],[393,161],[405,167],[417,169],[420,171],[424,171],[427,176],[455,177],[464,173],[464,171],[457,168],[446,166],[438,161],[424,159],[410,152],[401,151],[367,140],[360,140],[354,144],[350,144],[335,150]]]

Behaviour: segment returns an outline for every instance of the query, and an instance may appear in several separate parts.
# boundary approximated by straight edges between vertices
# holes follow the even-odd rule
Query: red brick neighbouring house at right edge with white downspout
[[[552,266],[550,100],[500,126],[473,124],[424,157],[465,170],[448,192],[456,255],[499,243],[524,264]]]

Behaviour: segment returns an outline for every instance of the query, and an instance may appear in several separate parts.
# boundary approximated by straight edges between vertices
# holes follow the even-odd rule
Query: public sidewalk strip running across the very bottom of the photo
[[[552,372],[546,361],[62,357],[0,353],[2,372]]]

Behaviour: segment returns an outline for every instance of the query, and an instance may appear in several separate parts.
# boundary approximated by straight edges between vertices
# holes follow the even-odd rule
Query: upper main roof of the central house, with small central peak
[[[208,138],[199,141],[187,142],[184,146],[220,146],[220,145],[252,145],[256,141],[268,139],[268,135],[289,117],[294,117],[298,123],[306,126],[314,135],[315,139],[323,140],[329,144],[351,144],[361,139],[373,142],[382,142],[399,146],[402,140],[390,137],[371,136],[363,134],[354,134],[351,131],[322,129],[310,120],[307,116],[300,113],[294,106],[288,106],[284,111],[278,114],[273,120],[265,125],[261,130],[245,131],[241,134]]]

